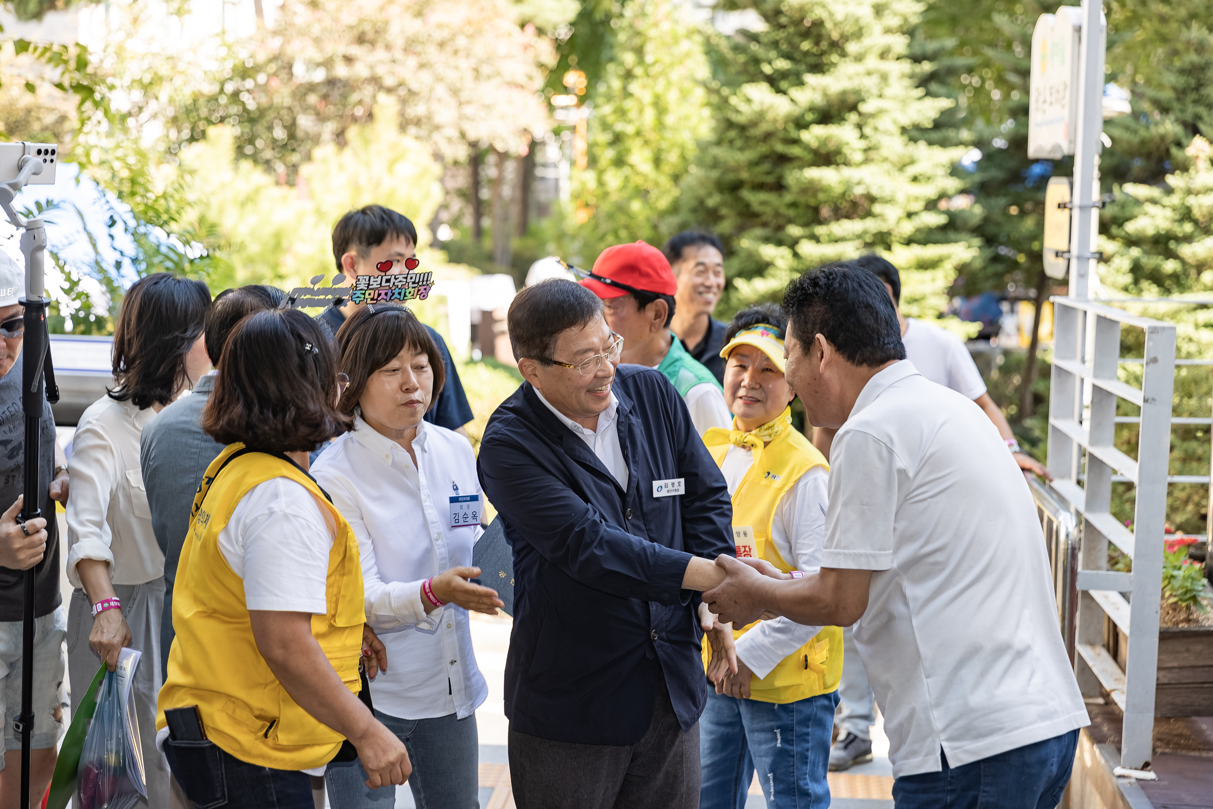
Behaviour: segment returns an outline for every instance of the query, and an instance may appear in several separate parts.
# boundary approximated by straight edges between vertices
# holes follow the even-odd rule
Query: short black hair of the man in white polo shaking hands
[[[796,340],[809,349],[821,335],[852,365],[905,359],[901,324],[884,285],[866,269],[837,261],[804,273],[784,294]]]

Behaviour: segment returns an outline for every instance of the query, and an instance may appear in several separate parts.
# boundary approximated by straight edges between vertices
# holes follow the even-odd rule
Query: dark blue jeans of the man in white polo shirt
[[[902,775],[893,782],[896,809],[1054,809],[1070,782],[1078,731],[1008,750],[939,773]]]

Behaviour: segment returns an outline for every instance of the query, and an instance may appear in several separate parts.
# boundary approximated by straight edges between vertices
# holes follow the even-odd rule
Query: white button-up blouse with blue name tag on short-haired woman
[[[371,683],[375,708],[402,719],[462,719],[489,694],[467,610],[446,604],[426,615],[421,582],[472,564],[483,531],[479,519],[466,520],[473,505],[483,514],[484,495],[472,446],[459,433],[422,422],[412,450],[416,466],[359,417],[317,458],[312,474],[358,537],[366,621],[387,646],[387,671]],[[452,505],[468,495],[478,500]]]

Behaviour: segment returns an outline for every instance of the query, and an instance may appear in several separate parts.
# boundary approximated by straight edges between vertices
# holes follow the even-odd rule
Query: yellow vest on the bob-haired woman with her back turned
[[[312,616],[312,636],[354,693],[361,688],[358,660],[365,621],[358,540],[320,488],[281,458],[249,452],[216,479],[223,462],[243,448],[224,449],[194,495],[172,593],[177,637],[160,689],[156,728],[167,724],[165,708],[197,705],[207,739],[240,760],[280,770],[312,769],[328,763],[343,737],[301,708],[269,671],[252,637],[244,581],[223,558],[218,536],[240,498],[270,478],[300,483],[329,511],[337,530],[329,553],[328,611]]]

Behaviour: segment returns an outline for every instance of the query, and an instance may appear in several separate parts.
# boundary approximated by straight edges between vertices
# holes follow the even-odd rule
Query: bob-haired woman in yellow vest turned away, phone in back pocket
[[[371,786],[409,757],[359,700],[358,540],[307,473],[308,450],[351,420],[337,363],[295,309],[250,314],[228,337],[204,429],[228,446],[194,497],[177,568],[156,745],[198,807],[312,809],[348,739]]]

